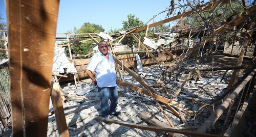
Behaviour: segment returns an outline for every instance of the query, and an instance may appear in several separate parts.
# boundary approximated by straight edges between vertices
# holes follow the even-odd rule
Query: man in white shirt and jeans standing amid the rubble
[[[91,57],[85,72],[93,80],[94,85],[98,85],[101,100],[101,117],[119,116],[121,113],[116,112],[118,94],[114,59],[109,52],[109,45],[105,41],[99,42],[98,49],[99,51]],[[94,71],[96,78],[92,73]],[[109,100],[111,102],[110,108]]]

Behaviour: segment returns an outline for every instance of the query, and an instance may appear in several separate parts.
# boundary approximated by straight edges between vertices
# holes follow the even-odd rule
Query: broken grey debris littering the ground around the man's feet
[[[186,63],[188,64],[189,61]],[[190,64],[190,67],[193,67],[194,63],[190,62]],[[188,131],[197,129],[215,109],[214,106],[205,106],[225,93],[232,71],[206,71],[205,73],[201,72],[199,77],[197,77],[198,73],[195,72],[195,76],[190,74],[191,77],[188,78],[188,71],[182,70],[179,71],[178,77],[176,75],[168,77],[163,75],[163,72],[168,68],[166,66],[168,65],[165,63],[164,66],[144,67],[143,71],[137,73],[158,95],[170,98],[172,102],[175,102],[170,105],[178,112],[178,116],[165,105],[158,103],[159,101],[153,97],[118,84],[117,111],[120,111],[121,115],[110,117],[110,119],[141,126],[154,125],[155,122],[161,123],[160,125],[165,128],[186,129]],[[212,66],[203,64],[197,67],[205,69]],[[165,78],[164,82],[162,78]],[[125,71],[119,75],[118,79],[142,88],[141,84]],[[186,82],[184,83],[184,81]],[[96,119],[101,116],[100,100],[97,88],[93,86],[90,79],[84,79],[78,85],[74,83],[62,84],[61,89],[68,97],[63,99],[65,100],[63,108],[70,136],[165,136],[167,134],[114,123],[108,125]],[[217,103],[221,103],[221,101],[219,100]],[[48,136],[58,136],[59,134],[54,116],[53,107],[50,106]],[[154,122],[152,123],[152,121]],[[221,121],[223,123],[224,119]],[[222,126],[218,126],[213,133],[220,133],[221,130]],[[184,135],[176,134],[176,136]]]

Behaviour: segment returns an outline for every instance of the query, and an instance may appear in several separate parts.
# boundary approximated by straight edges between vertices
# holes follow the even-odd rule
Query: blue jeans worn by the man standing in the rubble
[[[109,114],[116,113],[117,106],[117,88],[116,87],[98,87],[99,98],[101,100],[101,117],[109,118]],[[110,108],[109,108],[110,99]]]

